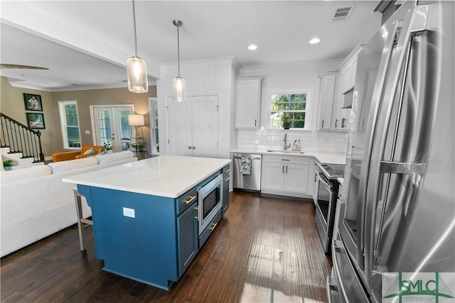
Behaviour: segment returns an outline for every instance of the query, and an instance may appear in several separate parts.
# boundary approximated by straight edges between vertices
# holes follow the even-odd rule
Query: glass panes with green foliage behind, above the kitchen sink
[[[286,118],[291,128],[305,127],[306,94],[272,94],[270,126],[282,128]]]

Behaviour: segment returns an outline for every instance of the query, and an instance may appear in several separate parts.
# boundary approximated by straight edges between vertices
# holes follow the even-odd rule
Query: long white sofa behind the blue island
[[[133,161],[134,153],[126,150],[1,171],[1,257],[76,223],[75,184],[62,182],[63,177]],[[85,199],[82,208],[85,218],[91,216]]]

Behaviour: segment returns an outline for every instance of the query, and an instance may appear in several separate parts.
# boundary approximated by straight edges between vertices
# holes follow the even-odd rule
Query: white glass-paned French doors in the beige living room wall
[[[90,106],[93,144],[105,145],[110,142],[115,152],[128,150],[131,143],[128,115],[133,113],[132,105]]]

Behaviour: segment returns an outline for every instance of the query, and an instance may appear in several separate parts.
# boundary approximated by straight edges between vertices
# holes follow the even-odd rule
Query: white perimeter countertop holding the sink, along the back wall
[[[267,151],[265,148],[233,148],[231,153],[258,153],[262,155],[293,155],[297,157],[314,157],[321,163],[346,164],[346,155],[344,153],[333,153],[326,151],[305,151],[303,153],[289,153],[278,151]]]

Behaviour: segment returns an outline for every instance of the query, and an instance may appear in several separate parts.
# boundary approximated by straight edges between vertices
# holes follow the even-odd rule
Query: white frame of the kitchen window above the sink
[[[313,89],[311,87],[301,87],[298,89],[271,89],[267,92],[267,109],[265,110],[265,128],[269,130],[282,130],[284,128],[276,128],[271,125],[270,113],[272,111],[272,96],[276,94],[306,94],[306,105],[305,105],[305,127],[304,128],[289,128],[294,131],[309,131],[311,130],[311,105],[313,103]],[[301,112],[301,111],[295,111]]]

